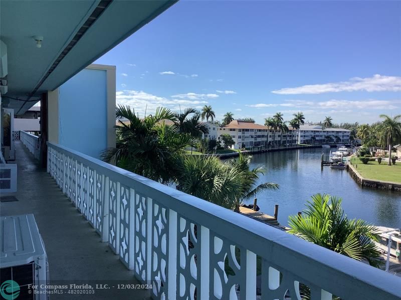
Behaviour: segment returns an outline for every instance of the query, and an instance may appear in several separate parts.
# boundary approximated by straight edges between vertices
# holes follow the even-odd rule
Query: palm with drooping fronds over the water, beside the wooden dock
[[[262,191],[279,188],[279,185],[273,182],[265,182],[257,185],[259,176],[265,173],[265,169],[263,166],[250,169],[249,163],[251,159],[251,155],[245,155],[240,152],[237,159],[231,159],[227,162],[233,169],[238,170],[243,175],[238,191],[234,196],[233,206],[236,212],[240,212],[240,205],[245,200],[255,197]]]

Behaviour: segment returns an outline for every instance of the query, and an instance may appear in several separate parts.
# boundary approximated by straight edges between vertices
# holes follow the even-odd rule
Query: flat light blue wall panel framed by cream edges
[[[99,158],[107,147],[106,70],[83,69],[59,90],[59,143]]]

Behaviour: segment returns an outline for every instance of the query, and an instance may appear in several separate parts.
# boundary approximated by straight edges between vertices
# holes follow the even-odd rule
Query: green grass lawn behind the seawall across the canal
[[[391,165],[387,165],[387,161],[381,161],[381,164],[377,161],[363,164],[359,158],[354,157],[351,162],[354,167],[357,164],[356,170],[364,178],[401,183],[401,162],[399,161]]]

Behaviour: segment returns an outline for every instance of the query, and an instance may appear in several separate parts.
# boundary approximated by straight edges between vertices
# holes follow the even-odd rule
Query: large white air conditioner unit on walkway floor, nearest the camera
[[[47,300],[49,267],[34,215],[2,216],[0,228],[2,293],[11,294],[10,299]]]

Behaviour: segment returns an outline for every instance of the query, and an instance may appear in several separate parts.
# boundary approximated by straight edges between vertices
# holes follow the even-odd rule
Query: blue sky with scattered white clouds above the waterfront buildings
[[[118,104],[212,105],[221,119],[371,123],[401,113],[401,2],[181,0],[96,63]]]

